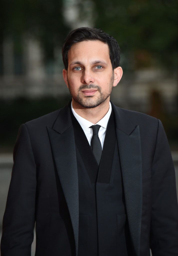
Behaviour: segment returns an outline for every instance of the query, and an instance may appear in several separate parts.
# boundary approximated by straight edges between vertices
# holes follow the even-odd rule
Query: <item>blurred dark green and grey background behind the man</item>
[[[81,26],[117,39],[124,73],[111,100],[162,121],[177,177],[177,1],[1,0],[0,230],[18,128],[70,100],[61,47]]]

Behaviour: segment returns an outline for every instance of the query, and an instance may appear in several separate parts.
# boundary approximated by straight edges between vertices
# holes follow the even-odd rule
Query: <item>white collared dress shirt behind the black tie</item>
[[[90,126],[95,125],[95,124],[91,123],[87,119],[78,115],[72,107],[72,102],[71,102],[71,109],[72,109],[72,113],[74,114],[75,118],[77,119],[77,121],[79,122],[80,126],[83,129],[83,131],[84,131],[84,133],[87,137],[88,143],[91,145],[91,137],[93,135],[93,129],[90,128]],[[105,135],[106,135],[106,128],[107,128],[108,120],[109,120],[110,115],[111,115],[111,110],[112,110],[111,103],[109,102],[108,112],[106,113],[106,115],[100,121],[98,121],[96,123],[96,124],[101,125],[101,127],[99,129],[99,132],[98,132],[98,137],[100,139],[102,149],[103,149],[103,144],[104,144],[104,138],[105,138]]]

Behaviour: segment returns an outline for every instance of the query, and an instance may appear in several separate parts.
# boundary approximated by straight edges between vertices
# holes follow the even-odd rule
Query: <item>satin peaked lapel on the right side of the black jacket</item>
[[[139,126],[112,104],[116,117],[116,136],[123,178],[125,204],[133,250],[140,254],[142,216],[142,161]]]

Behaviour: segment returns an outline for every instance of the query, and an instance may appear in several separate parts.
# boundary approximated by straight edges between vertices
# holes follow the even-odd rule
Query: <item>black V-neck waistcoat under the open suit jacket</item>
[[[113,112],[100,165],[73,114],[79,181],[78,256],[127,256],[125,207]]]

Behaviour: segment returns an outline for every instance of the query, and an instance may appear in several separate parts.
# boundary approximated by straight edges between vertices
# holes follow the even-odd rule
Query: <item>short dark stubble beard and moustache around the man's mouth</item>
[[[83,108],[96,108],[97,106],[101,105],[102,103],[104,103],[108,97],[111,95],[112,92],[112,88],[113,88],[113,81],[114,81],[114,74],[112,73],[112,77],[110,79],[110,83],[109,83],[109,88],[107,92],[102,92],[101,87],[95,84],[82,84],[79,89],[77,94],[74,94],[74,92],[71,89],[70,83],[68,81],[68,86],[69,86],[69,92],[72,96],[72,98],[78,103],[80,104]],[[81,90],[84,89],[97,89],[99,92],[99,95],[97,96],[97,98],[94,95],[90,95],[90,96],[83,96],[81,97]]]

